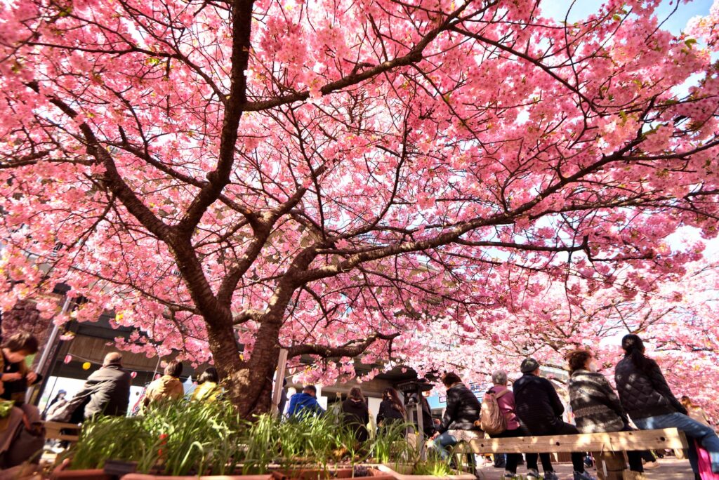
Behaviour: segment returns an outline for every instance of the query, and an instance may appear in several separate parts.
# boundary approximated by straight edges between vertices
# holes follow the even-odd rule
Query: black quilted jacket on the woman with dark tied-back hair
[[[649,360],[651,368],[641,371],[628,356],[617,364],[614,379],[622,407],[632,419],[687,413],[674,397],[667,380],[661,374],[656,361]]]

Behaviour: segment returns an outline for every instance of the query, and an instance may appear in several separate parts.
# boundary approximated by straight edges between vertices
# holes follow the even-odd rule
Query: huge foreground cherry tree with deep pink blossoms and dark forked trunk
[[[663,239],[717,234],[717,45],[657,3],[2,4],[2,308],[66,282],[249,416],[281,347],[419,355],[500,331],[516,275],[681,274],[702,245]]]

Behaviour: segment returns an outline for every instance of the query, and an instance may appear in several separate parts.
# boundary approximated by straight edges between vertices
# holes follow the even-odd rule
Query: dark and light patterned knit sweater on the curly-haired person
[[[627,415],[603,374],[577,370],[569,378],[569,403],[582,433],[618,432]]]

